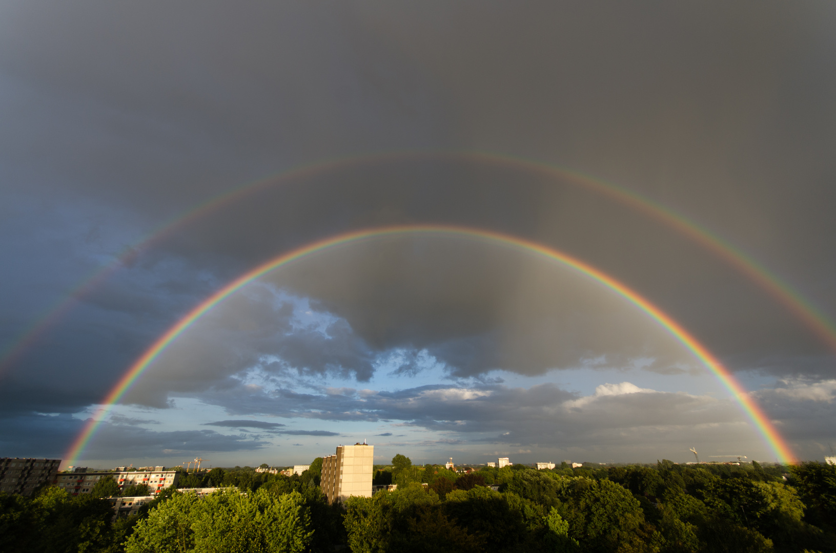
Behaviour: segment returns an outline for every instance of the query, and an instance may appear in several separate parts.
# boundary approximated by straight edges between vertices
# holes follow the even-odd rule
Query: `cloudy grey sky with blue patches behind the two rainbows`
[[[826,2],[0,4],[6,351],[177,214],[299,165],[370,156],[268,183],[80,297],[0,374],[0,454],[63,454],[155,337],[252,266],[344,231],[438,222],[540,241],[633,287],[754,390],[801,456],[819,456],[836,441],[814,422],[836,414],[836,353],[798,317],[628,205],[455,152],[633,190],[832,321],[834,23]],[[387,154],[403,150],[447,154]],[[670,436],[746,436],[766,451],[635,307],[546,261],[452,238],[308,258],[231,297],[150,371],[89,459],[280,457],[276,436],[318,436],[299,438],[303,461],[332,447],[323,432],[374,435],[351,421],[402,425],[375,432],[417,458],[653,460],[681,455],[664,449]],[[183,402],[188,424],[172,414]],[[706,430],[719,420],[732,426]]]

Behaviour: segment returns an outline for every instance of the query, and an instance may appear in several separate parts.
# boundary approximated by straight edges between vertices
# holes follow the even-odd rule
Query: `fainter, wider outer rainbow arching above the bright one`
[[[312,178],[316,175],[344,170],[359,165],[422,159],[464,160],[485,165],[492,164],[512,167],[518,170],[540,174],[549,179],[560,179],[573,185],[583,186],[623,205],[629,205],[631,208],[650,216],[650,218],[674,228],[676,231],[681,232],[683,235],[705,247],[706,250],[721,257],[721,259],[735,267],[737,271],[740,271],[752,282],[755,282],[757,286],[765,290],[774,300],[787,308],[789,312],[792,312],[795,317],[798,317],[806,327],[812,330],[813,333],[827,344],[828,348],[836,352],[836,324],[830,321],[823,312],[818,311],[812,302],[809,302],[800,292],[789,286],[787,282],[783,282],[781,278],[768,271],[766,267],[755,261],[752,256],[748,256],[739,248],[732,246],[730,242],[716,236],[711,231],[707,231],[695,222],[688,220],[685,216],[670,210],[665,205],[645,198],[624,187],[594,179],[589,175],[548,165],[540,161],[474,151],[404,151],[346,156],[334,160],[319,161],[311,165],[298,166],[280,175],[271,175],[266,179],[253,181],[233,188],[222,195],[217,195],[210,200],[196,205],[189,211],[166,221],[161,226],[155,227],[153,231],[145,235],[140,241],[135,242],[133,246],[126,247],[108,265],[94,271],[92,275],[79,282],[59,302],[44,312],[43,315],[38,317],[28,327],[24,328],[23,332],[20,332],[18,337],[9,342],[6,348],[0,350],[0,374],[3,374],[15,361],[21,358],[38,341],[39,337],[42,337],[50,327],[53,327],[54,324],[59,322],[76,302],[94,290],[99,283],[104,282],[110,275],[119,270],[121,266],[127,265],[130,259],[137,256],[140,251],[144,251],[155,243],[164,240],[166,236],[171,236],[172,233],[192,221],[196,221],[203,216],[208,216],[221,209],[224,205],[241,200],[247,195],[255,194],[258,190],[263,190],[269,186],[289,184],[298,180]]]

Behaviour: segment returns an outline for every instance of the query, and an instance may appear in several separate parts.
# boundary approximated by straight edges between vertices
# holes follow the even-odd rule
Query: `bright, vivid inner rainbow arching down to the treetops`
[[[306,246],[299,247],[296,250],[284,253],[270,261],[255,267],[251,271],[243,274],[234,281],[222,287],[220,290],[212,294],[211,297],[206,298],[200,305],[191,310],[185,317],[181,318],[173,327],[169,328],[165,334],[159,337],[150,348],[148,348],[142,356],[135,361],[127,372],[120,378],[110,393],[104,398],[99,408],[94,415],[87,420],[84,429],[74,440],[69,452],[65,455],[65,459],[69,464],[75,462],[81,457],[84,449],[93,438],[96,429],[102,423],[104,418],[115,403],[127,393],[131,385],[136,382],[137,378],[150,366],[151,363],[173,342],[181,335],[188,327],[208,312],[212,307],[222,302],[229,297],[233,292],[240,290],[248,283],[254,281],[258,277],[262,277],[270,271],[274,271],[279,267],[285,266],[292,261],[297,261],[305,256],[309,256],[319,251],[329,250],[337,246],[343,246],[351,242],[364,241],[372,238],[380,238],[385,236],[403,236],[403,235],[436,235],[436,236],[456,236],[463,238],[470,238],[480,241],[488,241],[492,244],[502,246],[512,246],[523,251],[529,251],[539,256],[547,257],[553,261],[558,261],[564,266],[572,267],[580,271],[587,277],[603,284],[605,287],[617,292],[619,295],[629,300],[635,306],[640,307],[642,311],[650,315],[656,322],[676,337],[683,345],[693,353],[696,358],[699,358],[701,363],[705,364],[707,368],[720,380],[720,382],[732,393],[734,398],[740,404],[742,410],[747,414],[748,418],[752,420],[756,428],[765,439],[767,445],[772,452],[780,459],[782,463],[792,463],[795,459],[792,449],[784,441],[782,436],[778,434],[777,429],[772,425],[768,419],[767,414],[755,403],[749,393],[742,387],[737,379],[734,378],[728,369],[724,368],[722,364],[708,351],[708,349],[697,341],[691,333],[687,332],[678,322],[675,322],[665,312],[662,312],[659,307],[641,297],[637,292],[624,286],[621,282],[615,280],[613,277],[599,271],[594,266],[590,266],[584,261],[580,261],[572,256],[554,250],[551,247],[543,246],[537,242],[528,241],[516,236],[509,236],[500,234],[494,231],[485,231],[481,229],[462,227],[462,226],[443,226],[443,225],[406,225],[406,226],[386,226],[381,228],[366,229],[361,231],[353,231],[338,236],[331,236],[323,240],[314,241]]]

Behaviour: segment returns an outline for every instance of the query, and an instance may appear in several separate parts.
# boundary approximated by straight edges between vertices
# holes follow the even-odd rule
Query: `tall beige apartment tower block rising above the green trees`
[[[371,497],[375,446],[339,445],[337,453],[322,459],[319,487],[329,503],[344,501],[351,495]]]

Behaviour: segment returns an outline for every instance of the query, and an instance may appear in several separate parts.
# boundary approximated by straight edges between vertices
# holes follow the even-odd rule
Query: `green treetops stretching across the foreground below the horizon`
[[[663,460],[461,474],[396,455],[375,467],[375,484],[397,490],[335,505],[319,490],[321,466],[317,459],[291,477],[249,467],[191,473],[181,486],[227,490],[199,499],[170,488],[137,515],[115,520],[95,497],[115,495],[112,480],[78,497],[53,486],[32,498],[0,494],[0,551],[836,551],[832,465]]]

